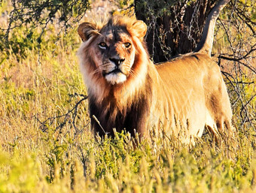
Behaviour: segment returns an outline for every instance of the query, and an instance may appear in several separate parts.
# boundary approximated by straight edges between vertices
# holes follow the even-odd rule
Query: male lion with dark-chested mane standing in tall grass
[[[203,38],[193,53],[154,64],[144,37],[147,26],[135,17],[106,23],[81,23],[78,50],[95,134],[126,129],[134,136],[175,134],[184,143],[232,131],[232,110],[221,70],[211,59],[215,20],[228,1],[209,14]]]

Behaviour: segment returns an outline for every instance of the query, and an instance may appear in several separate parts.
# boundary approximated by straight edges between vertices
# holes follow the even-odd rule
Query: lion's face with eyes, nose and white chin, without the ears
[[[119,84],[133,74],[135,48],[123,29],[105,29],[95,42],[96,68],[108,83]],[[123,32],[124,31],[124,32]]]

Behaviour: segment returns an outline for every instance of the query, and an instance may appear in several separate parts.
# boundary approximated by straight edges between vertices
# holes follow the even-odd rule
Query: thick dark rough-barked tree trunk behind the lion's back
[[[164,62],[195,49],[213,0],[145,2],[135,0],[138,20],[148,25],[146,42],[154,62]]]

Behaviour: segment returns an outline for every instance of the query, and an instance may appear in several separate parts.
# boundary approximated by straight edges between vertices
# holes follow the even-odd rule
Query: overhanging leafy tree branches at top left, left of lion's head
[[[8,29],[6,29],[6,38],[8,38],[11,29],[23,24],[31,24],[32,29],[38,26],[42,32],[49,23],[56,23],[66,30],[84,17],[85,11],[89,8],[87,0],[12,0],[13,10],[9,14]],[[40,41],[38,39],[38,41]]]

